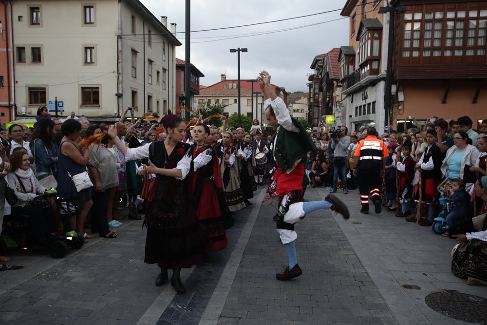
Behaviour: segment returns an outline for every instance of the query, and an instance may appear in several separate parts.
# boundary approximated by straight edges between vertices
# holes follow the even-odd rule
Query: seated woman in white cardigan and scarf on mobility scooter
[[[48,197],[48,204],[36,204],[35,198],[47,191],[39,184],[34,172],[30,168],[29,155],[22,151],[10,156],[11,172],[7,179],[11,189],[14,190],[18,201],[12,206],[12,214],[25,214],[31,216],[30,230],[35,234],[38,243],[47,242],[49,233],[54,230],[53,209],[56,209],[54,197]]]

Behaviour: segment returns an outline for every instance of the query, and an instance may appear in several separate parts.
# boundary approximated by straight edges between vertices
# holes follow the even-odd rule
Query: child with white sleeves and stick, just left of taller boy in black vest
[[[396,217],[406,217],[411,211],[412,181],[414,179],[414,160],[411,157],[411,141],[402,144],[402,157],[397,155],[395,162],[397,172],[399,172],[400,189],[399,202],[401,211],[396,212]]]

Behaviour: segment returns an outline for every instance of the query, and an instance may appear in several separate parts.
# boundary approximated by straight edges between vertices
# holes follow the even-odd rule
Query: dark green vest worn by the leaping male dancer
[[[291,117],[294,126],[299,128],[300,132],[287,131],[279,126],[279,138],[277,139],[276,148],[274,148],[274,160],[279,164],[279,167],[286,172],[294,166],[294,163],[306,157],[308,151],[316,155],[316,144],[306,132],[300,121]],[[275,141],[276,135],[274,132],[272,142]]]

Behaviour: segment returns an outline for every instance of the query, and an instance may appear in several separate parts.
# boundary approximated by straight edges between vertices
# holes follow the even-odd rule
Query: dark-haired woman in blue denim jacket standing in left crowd
[[[49,175],[57,178],[57,158],[59,149],[54,143],[54,121],[48,118],[40,119],[30,143],[34,162],[36,163],[37,179],[41,180]]]

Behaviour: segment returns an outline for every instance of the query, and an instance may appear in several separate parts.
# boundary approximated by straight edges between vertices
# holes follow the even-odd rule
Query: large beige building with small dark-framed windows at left
[[[17,114],[56,97],[99,119],[134,107],[164,115],[175,102],[181,43],[138,0],[16,0],[12,4]],[[171,25],[175,33],[175,24]]]

